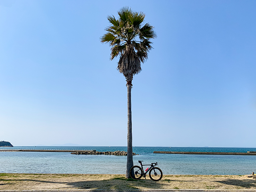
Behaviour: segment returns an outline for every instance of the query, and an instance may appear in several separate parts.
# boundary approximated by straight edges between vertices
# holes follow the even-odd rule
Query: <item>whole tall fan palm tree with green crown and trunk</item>
[[[129,7],[121,8],[118,11],[119,18],[108,16],[110,26],[100,40],[102,43],[109,43],[111,46],[110,59],[120,56],[117,70],[126,78],[128,98],[128,134],[127,134],[127,164],[126,178],[130,178],[130,168],[133,166],[132,159],[132,105],[131,88],[132,79],[135,74],[141,71],[140,63],[148,58],[148,52],[152,49],[151,38],[156,38],[153,26],[144,22],[143,12],[134,12]]]

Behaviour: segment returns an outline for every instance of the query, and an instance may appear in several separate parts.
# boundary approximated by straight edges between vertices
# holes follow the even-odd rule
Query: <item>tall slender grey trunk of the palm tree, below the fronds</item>
[[[127,84],[127,99],[128,99],[128,132],[127,132],[127,164],[126,164],[126,178],[130,178],[130,169],[133,166],[132,159],[132,102],[131,102],[132,84]]]

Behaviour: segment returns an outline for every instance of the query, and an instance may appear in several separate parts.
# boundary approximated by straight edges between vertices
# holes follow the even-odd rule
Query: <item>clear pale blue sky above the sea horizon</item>
[[[108,15],[157,38],[132,82],[134,146],[256,147],[255,0],[0,0],[0,140],[126,146]]]

